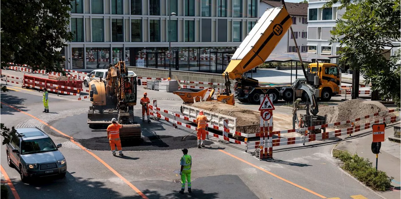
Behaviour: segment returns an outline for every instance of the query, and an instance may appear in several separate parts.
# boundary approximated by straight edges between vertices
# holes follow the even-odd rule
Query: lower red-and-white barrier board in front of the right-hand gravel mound
[[[372,127],[373,124],[376,123],[394,123],[397,121],[400,121],[399,116],[393,116],[393,117],[387,117],[383,119],[378,119],[375,121],[371,121],[369,123],[365,123],[363,125],[356,125],[354,127],[346,128],[346,129],[340,129],[340,130],[335,130],[335,131],[328,131],[324,133],[318,133],[318,134],[313,134],[313,135],[306,135],[306,136],[301,136],[301,137],[290,137],[290,138],[281,138],[281,139],[273,139],[273,147],[274,146],[282,146],[282,145],[290,145],[290,144],[297,144],[297,143],[306,143],[310,141],[315,141],[315,140],[323,140],[323,139],[328,139],[332,137],[338,137],[341,135],[347,135],[351,133],[355,133],[358,131],[362,131],[365,129],[369,129]],[[259,148],[260,141],[256,142],[248,142],[248,148]]]

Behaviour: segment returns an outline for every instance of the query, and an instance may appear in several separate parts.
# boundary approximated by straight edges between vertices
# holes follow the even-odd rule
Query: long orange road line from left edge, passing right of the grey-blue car
[[[147,197],[144,193],[142,193],[142,191],[140,191],[138,188],[136,188],[130,181],[128,181],[125,177],[123,177],[121,174],[119,174],[117,171],[115,171],[115,169],[113,169],[110,165],[108,165],[108,164],[107,164],[105,161],[103,161],[100,157],[98,157],[97,155],[95,155],[94,153],[92,153],[91,151],[89,151],[88,149],[86,149],[85,147],[83,147],[81,144],[77,143],[77,142],[74,140],[73,137],[71,137],[71,136],[69,136],[69,135],[67,135],[67,134],[65,134],[65,133],[63,133],[63,132],[61,132],[61,131],[59,131],[59,130],[56,129],[55,127],[49,125],[49,124],[46,123],[45,121],[43,121],[43,120],[41,120],[41,119],[39,119],[39,118],[37,118],[37,117],[35,117],[35,116],[33,116],[33,115],[31,115],[31,114],[29,114],[29,113],[26,113],[26,112],[24,112],[24,111],[21,111],[20,109],[18,109],[18,108],[16,108],[16,107],[13,107],[12,105],[8,105],[8,104],[3,103],[3,102],[1,102],[1,101],[0,101],[0,103],[4,104],[4,105],[6,105],[6,106],[8,106],[8,107],[10,107],[10,108],[12,108],[12,109],[15,109],[15,110],[17,110],[17,111],[20,111],[21,113],[24,113],[25,115],[28,115],[28,116],[30,116],[30,117],[32,117],[32,118],[34,118],[34,119],[40,121],[40,122],[43,123],[44,125],[47,125],[49,128],[55,130],[57,133],[60,133],[61,135],[64,135],[65,137],[69,137],[71,142],[73,142],[75,145],[79,146],[81,149],[83,149],[84,151],[86,151],[87,153],[89,153],[90,155],[92,155],[95,159],[97,159],[100,163],[102,163],[107,169],[109,169],[109,170],[110,170],[111,172],[113,172],[117,177],[119,177],[122,181],[124,181],[124,183],[126,183],[128,186],[130,186],[132,189],[134,189],[134,191],[136,191],[136,193],[138,193],[143,199],[148,199],[148,197]]]

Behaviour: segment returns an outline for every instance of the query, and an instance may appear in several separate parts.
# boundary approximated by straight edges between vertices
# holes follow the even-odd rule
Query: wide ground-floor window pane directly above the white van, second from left
[[[109,59],[110,48],[86,48],[86,68],[103,68]]]

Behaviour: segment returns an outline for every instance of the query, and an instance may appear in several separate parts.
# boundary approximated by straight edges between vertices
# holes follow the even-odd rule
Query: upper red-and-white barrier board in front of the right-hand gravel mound
[[[317,125],[317,126],[311,126],[311,127],[306,127],[306,128],[299,128],[299,129],[290,129],[290,130],[282,130],[282,131],[273,131],[273,135],[274,134],[282,134],[282,133],[292,133],[292,132],[304,132],[306,130],[314,130],[314,129],[321,129],[321,128],[326,128],[326,127],[333,127],[333,126],[337,126],[337,125],[342,125],[342,124],[351,124],[352,122],[356,122],[356,121],[360,121],[362,119],[367,119],[369,117],[375,117],[377,115],[384,115],[387,113],[392,113],[394,112],[395,109],[393,110],[387,110],[387,111],[381,111],[378,113],[373,113],[370,115],[366,115],[363,117],[359,117],[356,119],[351,119],[351,120],[346,120],[346,121],[340,121],[340,122],[334,122],[334,123],[329,123],[329,124],[322,124],[322,125]],[[248,134],[248,137],[260,137],[260,133],[253,133],[253,134]]]

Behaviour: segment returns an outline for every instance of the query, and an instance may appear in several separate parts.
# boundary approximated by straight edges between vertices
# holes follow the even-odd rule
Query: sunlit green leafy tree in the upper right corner
[[[331,0],[324,7],[331,7]],[[340,0],[346,12],[337,20],[331,42],[344,48],[340,64],[359,69],[383,98],[401,107],[401,0]],[[393,50],[395,54],[388,56]]]

